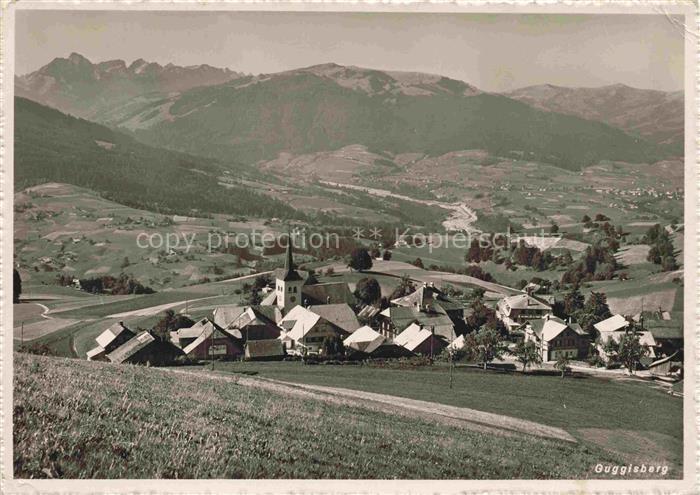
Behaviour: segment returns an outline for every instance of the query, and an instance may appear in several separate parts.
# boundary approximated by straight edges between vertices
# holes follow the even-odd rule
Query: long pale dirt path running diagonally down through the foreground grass
[[[525,434],[553,440],[576,442],[573,436],[561,428],[464,407],[448,406],[435,402],[407,399],[394,395],[363,392],[346,388],[290,383],[269,378],[251,378],[244,375],[230,375],[206,371],[185,371],[179,369],[169,369],[168,371],[233,381],[246,387],[255,387],[274,393],[320,400],[332,404],[362,407],[390,414],[418,417],[426,421],[459,426],[482,433],[506,436]]]

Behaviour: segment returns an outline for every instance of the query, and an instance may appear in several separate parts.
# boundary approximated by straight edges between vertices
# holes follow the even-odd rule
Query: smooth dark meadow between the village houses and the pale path
[[[369,366],[302,365],[300,362],[217,363],[218,371],[257,373],[263,378],[343,387],[468,407],[565,429],[587,441],[592,429],[639,436],[663,444],[664,458],[680,467],[683,400],[636,380],[496,373],[457,367],[449,388],[446,366],[386,369]],[[600,444],[599,439],[595,438]],[[607,445],[614,451],[630,446]]]

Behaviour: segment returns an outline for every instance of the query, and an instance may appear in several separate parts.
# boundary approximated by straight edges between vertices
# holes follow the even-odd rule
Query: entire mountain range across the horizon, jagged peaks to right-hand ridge
[[[93,64],[77,54],[17,78],[16,87],[150,146],[223,162],[353,144],[388,156],[517,152],[569,169],[682,153],[682,94],[627,87],[500,95],[439,75],[337,64],[254,76],[143,60]]]

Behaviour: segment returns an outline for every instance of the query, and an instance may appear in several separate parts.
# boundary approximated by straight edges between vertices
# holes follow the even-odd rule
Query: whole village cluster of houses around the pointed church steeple
[[[297,268],[290,241],[284,268],[273,276],[259,277],[259,304],[219,305],[210,316],[189,320],[189,326],[184,315],[165,335],[117,322],[95,339],[97,346],[86,357],[149,366],[425,358],[431,364],[475,362],[483,369],[494,363],[511,367],[517,363],[523,371],[556,369],[562,377],[572,372],[617,372],[667,384],[682,380],[681,331],[653,322],[645,325],[643,313],[610,314],[604,301],[596,306],[595,294],[589,305],[597,316],[577,322],[557,316],[553,298],[539,294],[542,287],[534,283],[520,291],[512,289],[512,295],[501,297],[490,309],[480,294],[468,304],[434,282],[415,283],[406,277],[399,289],[403,294],[382,307],[376,280],[365,278],[354,292],[347,282],[319,283],[313,273]],[[658,316],[662,322],[667,318]],[[479,318],[481,325],[474,328]]]

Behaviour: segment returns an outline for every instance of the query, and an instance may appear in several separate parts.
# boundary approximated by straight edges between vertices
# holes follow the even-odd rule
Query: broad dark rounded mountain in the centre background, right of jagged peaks
[[[355,70],[353,80],[364,77],[364,89],[311,70],[245,77],[150,103],[112,124],[156,146],[246,163],[281,151],[309,153],[356,143],[377,152],[431,155],[517,151],[568,169],[602,159],[651,163],[668,155],[663,146],[606,124],[505,96],[465,94],[461,87],[417,95],[382,90],[384,73]]]

